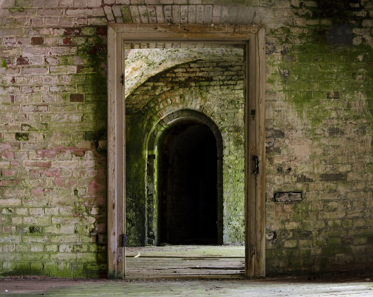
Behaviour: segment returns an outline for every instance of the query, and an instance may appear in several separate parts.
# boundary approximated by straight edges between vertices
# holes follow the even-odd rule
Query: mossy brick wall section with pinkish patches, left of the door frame
[[[45,2],[0,9],[0,272],[105,276],[106,24]]]

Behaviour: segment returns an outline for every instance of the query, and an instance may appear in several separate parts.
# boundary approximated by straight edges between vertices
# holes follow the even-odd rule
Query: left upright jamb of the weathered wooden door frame
[[[125,233],[124,197],[124,102],[122,75],[122,42],[115,30],[108,28],[108,97],[107,97],[107,276],[125,277],[125,250],[122,234]]]

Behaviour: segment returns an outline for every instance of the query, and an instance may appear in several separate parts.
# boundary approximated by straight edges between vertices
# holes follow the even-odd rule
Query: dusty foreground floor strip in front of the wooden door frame
[[[7,290],[7,292],[5,291]],[[372,297],[373,281],[308,279],[163,279],[107,281],[3,279],[3,296],[224,296],[224,297]]]

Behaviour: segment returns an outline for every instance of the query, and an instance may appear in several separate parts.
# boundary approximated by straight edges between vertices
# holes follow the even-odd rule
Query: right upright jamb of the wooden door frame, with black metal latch
[[[248,41],[245,151],[245,275],[265,276],[265,40],[264,28]]]

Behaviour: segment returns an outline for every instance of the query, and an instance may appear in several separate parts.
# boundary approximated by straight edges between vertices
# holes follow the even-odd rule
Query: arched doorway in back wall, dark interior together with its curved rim
[[[219,128],[195,110],[176,111],[160,124],[165,129],[148,142],[148,151],[154,150],[153,144],[157,147],[154,243],[222,244],[223,140]],[[179,199],[172,199],[176,196]],[[170,226],[180,232],[170,231]]]

